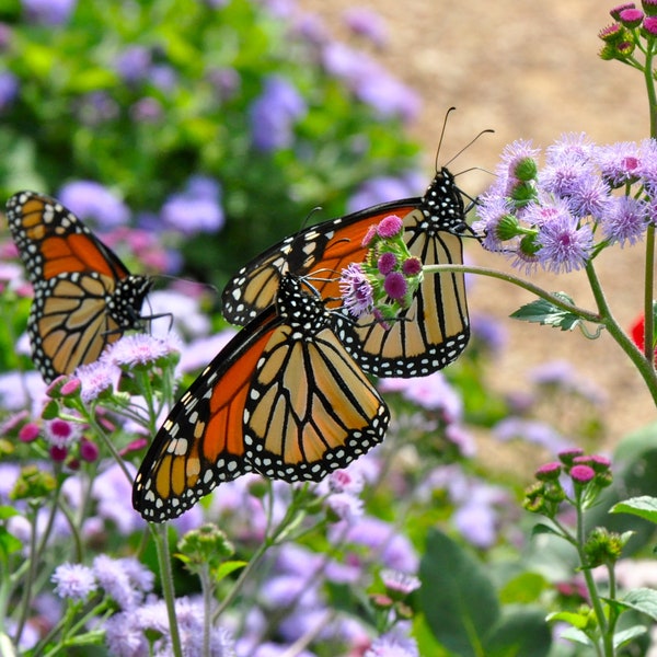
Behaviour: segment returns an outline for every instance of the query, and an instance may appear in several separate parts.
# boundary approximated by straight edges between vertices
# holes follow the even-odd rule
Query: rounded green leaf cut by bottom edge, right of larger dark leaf
[[[543,657],[550,653],[552,633],[545,612],[538,607],[506,608],[491,632],[484,654],[488,657]]]

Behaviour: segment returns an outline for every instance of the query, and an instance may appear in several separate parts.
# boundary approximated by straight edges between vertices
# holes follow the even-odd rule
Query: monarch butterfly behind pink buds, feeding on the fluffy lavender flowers
[[[316,288],[327,307],[339,307],[337,277],[351,262],[365,260],[368,228],[388,215],[403,219],[404,240],[424,265],[462,264],[465,222],[462,193],[447,168],[437,172],[422,198],[384,203],[310,227],[272,246],[228,283],[223,315],[244,324],[274,298],[285,272],[324,277]],[[343,310],[337,332],[364,370],[379,377],[422,377],[453,361],[470,337],[463,275],[425,276],[414,301],[387,330],[371,318],[354,321]]]

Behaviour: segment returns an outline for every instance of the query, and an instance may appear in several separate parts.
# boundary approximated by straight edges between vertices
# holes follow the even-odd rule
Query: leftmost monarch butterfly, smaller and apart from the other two
[[[131,275],[70,210],[19,192],[7,203],[7,217],[34,286],[27,333],[47,383],[97,360],[124,331],[139,327],[152,280]]]

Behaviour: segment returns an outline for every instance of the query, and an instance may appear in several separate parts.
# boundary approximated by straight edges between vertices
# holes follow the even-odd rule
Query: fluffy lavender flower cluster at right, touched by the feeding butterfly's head
[[[580,269],[602,249],[641,240],[655,216],[657,141],[596,146],[564,135],[545,151],[515,141],[497,182],[480,198],[474,228],[484,246],[531,273]]]

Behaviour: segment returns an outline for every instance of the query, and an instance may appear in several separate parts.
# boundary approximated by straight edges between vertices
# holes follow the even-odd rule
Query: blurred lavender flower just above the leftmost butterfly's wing
[[[58,197],[80,219],[93,219],[103,228],[125,224],[130,218],[127,206],[107,187],[93,181],[68,183]]]

